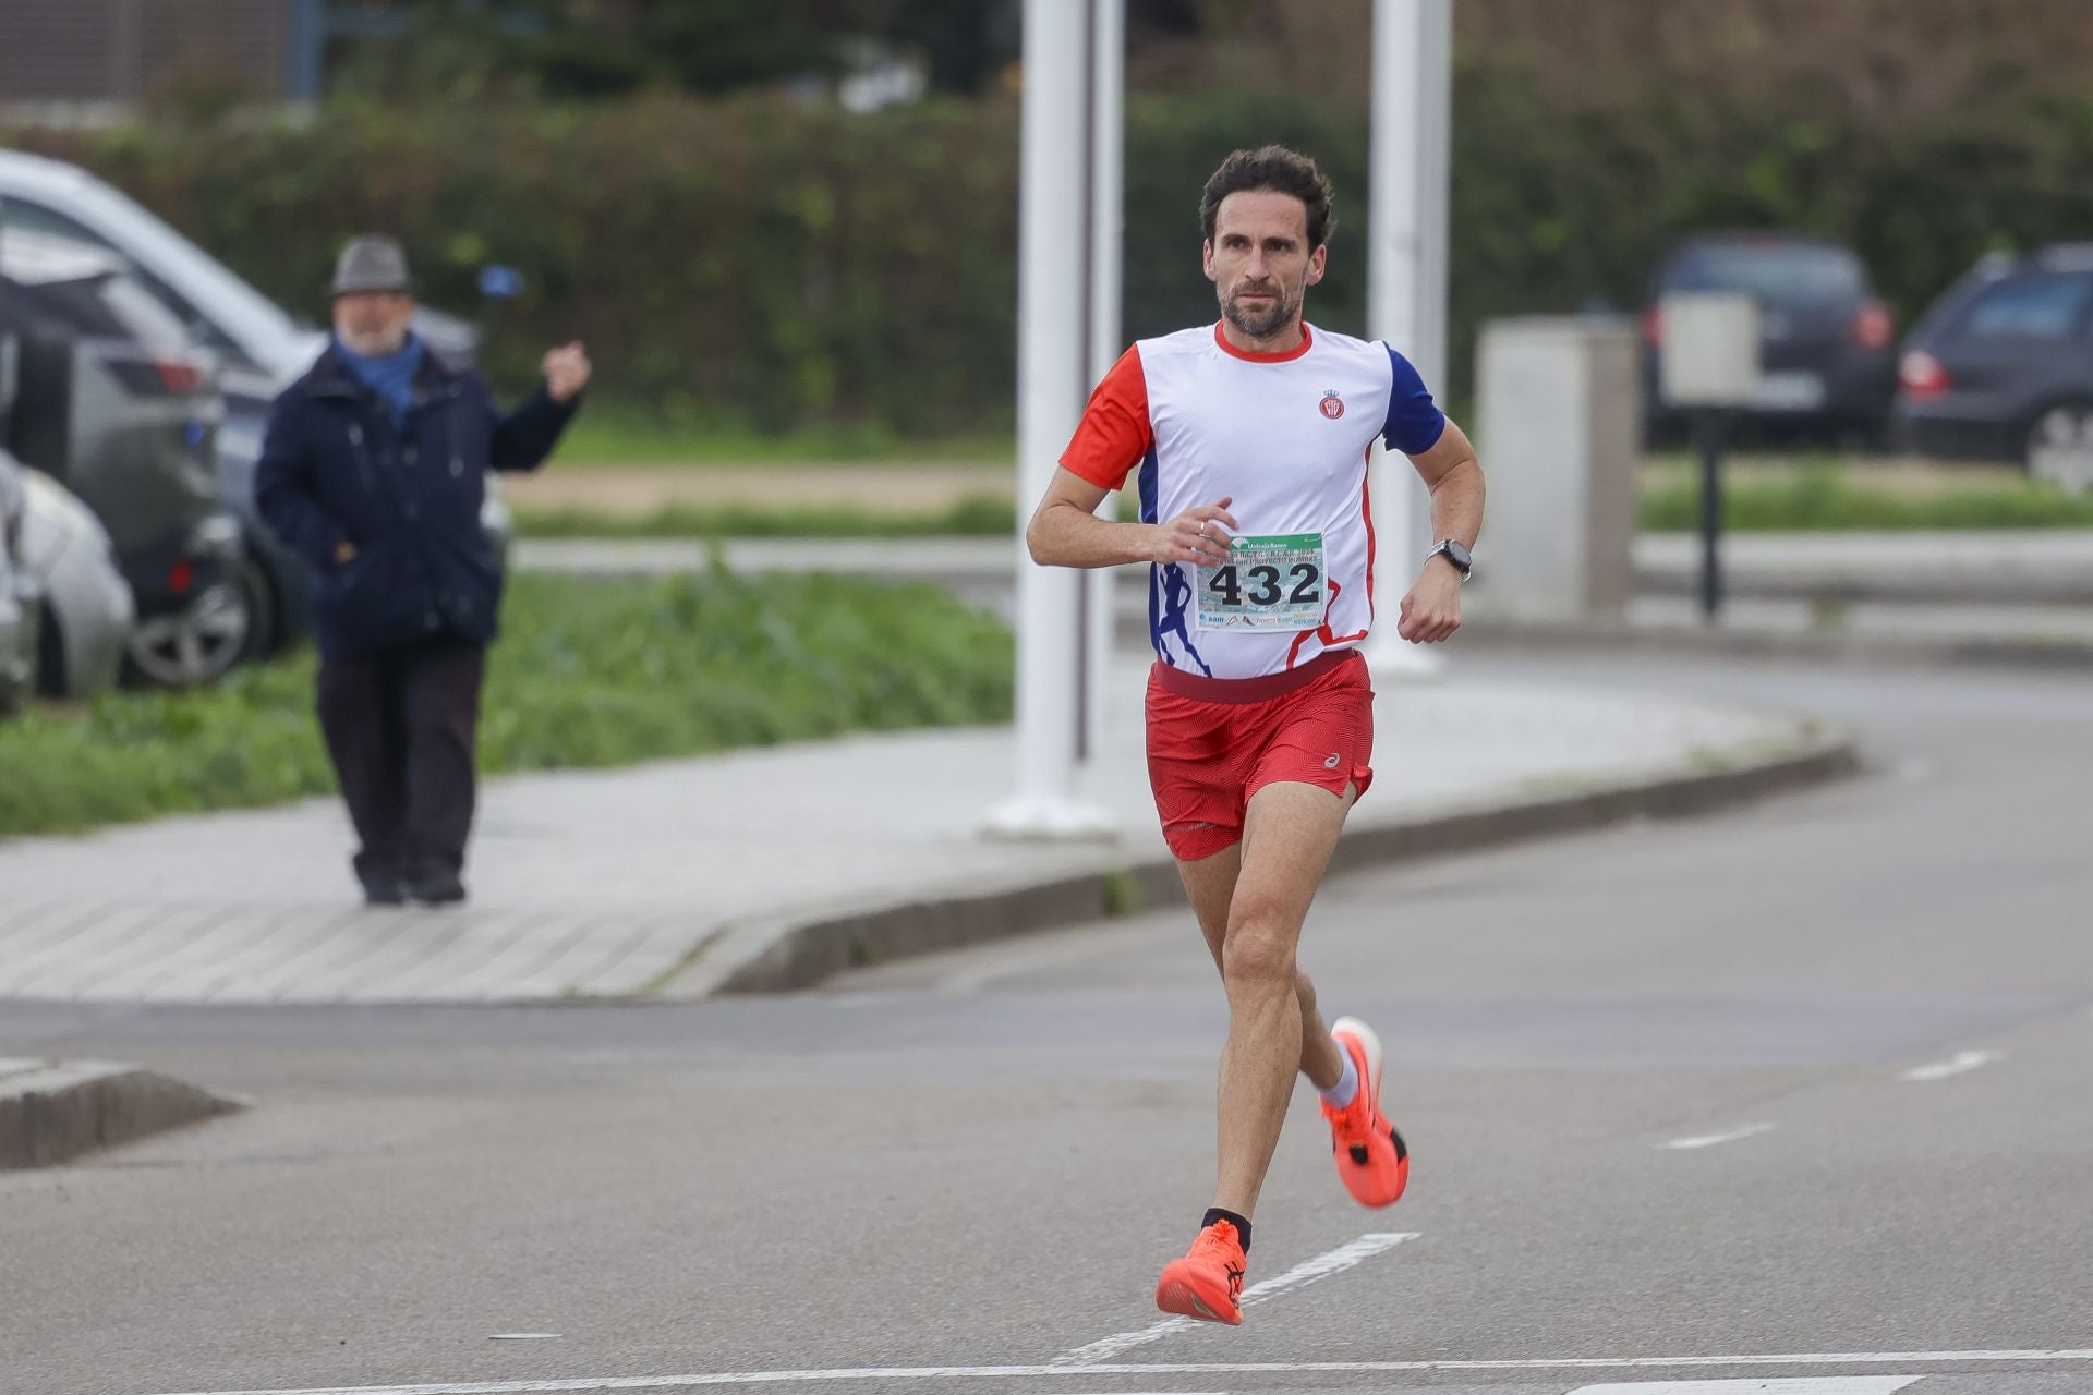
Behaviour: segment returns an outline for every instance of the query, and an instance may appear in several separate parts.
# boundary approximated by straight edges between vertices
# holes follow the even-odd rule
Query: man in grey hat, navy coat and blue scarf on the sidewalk
[[[356,826],[373,906],[465,899],[475,734],[502,571],[479,523],[486,471],[536,468],[588,385],[580,343],[502,414],[477,372],[408,322],[406,255],[341,249],[335,335],[276,397],[255,468],[270,529],[312,563],[320,730]]]

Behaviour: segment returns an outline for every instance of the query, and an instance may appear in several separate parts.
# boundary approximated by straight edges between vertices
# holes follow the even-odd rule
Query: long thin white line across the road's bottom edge
[[[567,1391],[678,1391],[718,1385],[812,1380],[1036,1380],[1040,1376],[1400,1376],[1467,1370],[1708,1370],[1729,1366],[1982,1366],[2093,1364],[2093,1347],[2057,1351],[1815,1351],[1790,1355],[1633,1355],[1505,1362],[1124,1362],[1118,1366],[856,1366],[831,1370],[737,1370],[693,1376],[573,1376],[452,1385],[331,1385],[182,1395],[565,1395]],[[1764,1385],[1764,1382],[1760,1382]]]

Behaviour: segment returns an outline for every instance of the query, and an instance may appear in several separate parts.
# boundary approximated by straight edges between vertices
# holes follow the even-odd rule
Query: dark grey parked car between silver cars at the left
[[[75,243],[0,236],[13,406],[0,445],[77,494],[115,540],[138,607],[130,669],[207,682],[247,646],[241,529],[218,502],[216,362],[180,320]]]

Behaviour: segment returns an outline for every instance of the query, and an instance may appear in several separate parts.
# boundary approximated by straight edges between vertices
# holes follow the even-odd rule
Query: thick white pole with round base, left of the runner
[[[1093,65],[1090,0],[1026,0],[1023,117],[1017,222],[1017,498],[1053,479],[1088,389],[1086,215],[1090,102],[1078,100]],[[1084,577],[1038,567],[1017,538],[1017,791],[990,811],[1005,837],[1084,837],[1109,830],[1076,799],[1084,703]]]

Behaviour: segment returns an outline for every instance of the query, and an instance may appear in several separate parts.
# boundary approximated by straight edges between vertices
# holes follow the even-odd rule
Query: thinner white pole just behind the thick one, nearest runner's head
[[[1126,349],[1120,343],[1120,245],[1126,226],[1126,0],[1090,0],[1090,345],[1088,385],[1111,368]],[[1118,500],[1105,500],[1113,508]],[[1113,596],[1126,586],[1126,569],[1099,567],[1084,573],[1084,636],[1088,684],[1082,719],[1082,765],[1097,763],[1099,738],[1111,701]],[[1145,577],[1143,577],[1145,581]]]

